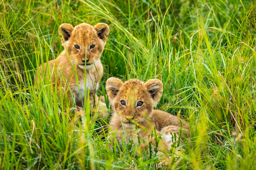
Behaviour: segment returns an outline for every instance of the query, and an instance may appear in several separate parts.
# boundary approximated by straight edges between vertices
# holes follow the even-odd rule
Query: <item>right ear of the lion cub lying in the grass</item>
[[[154,100],[154,106],[156,106],[163,94],[163,83],[159,79],[149,79],[145,82],[145,87]]]

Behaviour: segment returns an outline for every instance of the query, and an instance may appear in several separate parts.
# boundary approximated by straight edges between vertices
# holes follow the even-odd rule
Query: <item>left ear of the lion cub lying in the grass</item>
[[[106,89],[107,89],[108,99],[111,103],[113,99],[116,97],[116,95],[118,94],[122,85],[123,85],[122,80],[117,79],[115,77],[111,77],[107,80]]]

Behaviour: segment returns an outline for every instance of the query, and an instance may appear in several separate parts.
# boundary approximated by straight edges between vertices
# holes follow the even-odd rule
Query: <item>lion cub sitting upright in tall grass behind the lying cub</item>
[[[58,31],[64,51],[56,59],[48,62],[52,82],[57,83],[58,88],[64,88],[70,102],[74,99],[79,107],[83,107],[84,97],[90,89],[90,104],[93,105],[95,99],[93,95],[95,95],[97,105],[99,99],[95,92],[103,75],[100,57],[108,38],[108,25],[98,23],[96,26],[91,26],[81,23],[73,27],[64,23]],[[46,68],[47,62],[38,69],[42,77],[49,74]],[[38,81],[37,76],[35,76],[36,81]],[[102,102],[100,104],[105,105]]]

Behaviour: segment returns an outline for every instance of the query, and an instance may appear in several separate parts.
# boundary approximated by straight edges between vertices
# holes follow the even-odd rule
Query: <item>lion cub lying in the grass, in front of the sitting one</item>
[[[160,80],[150,79],[144,83],[139,79],[130,79],[122,82],[111,77],[107,80],[106,88],[113,109],[110,129],[117,132],[116,140],[119,144],[122,145],[123,139],[138,143],[138,136],[150,142],[148,136],[155,127],[157,133],[162,134],[164,144],[159,149],[170,150],[171,144],[179,138],[180,129],[189,130],[185,120],[164,111],[154,110],[163,93],[163,83]],[[176,133],[175,139],[175,135],[171,133]]]

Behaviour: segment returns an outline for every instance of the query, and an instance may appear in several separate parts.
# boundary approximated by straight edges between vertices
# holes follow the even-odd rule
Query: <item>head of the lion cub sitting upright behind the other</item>
[[[73,64],[80,68],[93,66],[98,60],[108,38],[109,27],[105,23],[91,26],[81,23],[75,28],[70,24],[61,24],[59,34],[64,48],[68,51]]]

